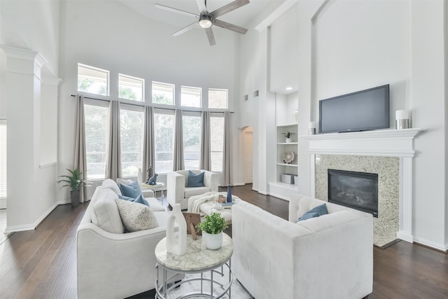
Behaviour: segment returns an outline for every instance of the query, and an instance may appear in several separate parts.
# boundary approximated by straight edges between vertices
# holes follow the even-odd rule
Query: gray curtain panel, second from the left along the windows
[[[121,177],[121,144],[120,144],[120,102],[111,101],[110,110],[110,127],[109,127],[109,151],[106,163],[106,179]]]

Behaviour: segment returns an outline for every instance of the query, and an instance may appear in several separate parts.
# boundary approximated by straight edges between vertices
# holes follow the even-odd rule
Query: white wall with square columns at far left
[[[0,81],[8,82],[1,84],[0,91],[1,113],[8,107],[4,113],[8,119],[6,230],[28,230],[56,206],[57,165],[53,154],[52,163],[42,168],[41,127],[45,126],[41,120],[57,116],[41,111],[41,74],[57,76],[59,1],[1,1],[0,5],[0,44],[10,49],[8,55],[1,54],[0,64]],[[56,98],[57,92],[46,96],[52,102]],[[55,134],[49,136],[48,149],[55,153]]]

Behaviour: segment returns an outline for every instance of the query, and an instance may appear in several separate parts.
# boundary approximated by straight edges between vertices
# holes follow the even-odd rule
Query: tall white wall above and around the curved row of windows
[[[64,1],[61,11],[59,172],[73,167],[75,102],[70,95],[77,89],[78,62],[111,71],[111,98],[121,73],[145,79],[148,103],[151,81],[160,81],[176,85],[177,99],[181,85],[201,87],[203,97],[208,88],[227,88],[234,110],[236,34],[214,27],[213,47],[200,28],[174,37],[179,28],[148,20],[118,1]],[[231,127],[233,134],[237,124]]]

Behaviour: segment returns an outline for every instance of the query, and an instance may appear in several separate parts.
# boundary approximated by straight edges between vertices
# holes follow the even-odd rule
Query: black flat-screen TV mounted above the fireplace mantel
[[[319,132],[356,132],[389,127],[389,85],[319,101]]]

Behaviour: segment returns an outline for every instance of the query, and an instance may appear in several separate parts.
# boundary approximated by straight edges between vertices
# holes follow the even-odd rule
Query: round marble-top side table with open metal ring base
[[[232,239],[223,233],[223,246],[218,250],[207,249],[202,244],[202,237],[198,236],[193,240],[191,235],[187,235],[187,252],[183,256],[176,256],[173,253],[167,252],[167,238],[163,238],[155,246],[155,258],[158,261],[157,265],[157,279],[155,280],[155,298],[166,299],[169,292],[174,288],[186,284],[190,281],[200,282],[200,291],[193,291],[182,295],[181,298],[204,297],[204,298],[222,298],[223,295],[228,294],[230,298],[230,286],[232,285],[232,270],[230,269],[231,257],[233,253]],[[162,278],[160,279],[160,270]],[[168,286],[167,272],[176,272],[181,274],[196,274],[200,273],[200,277],[185,278],[176,284]],[[228,272],[228,281],[219,279],[223,277],[225,272]],[[205,277],[204,273],[210,272],[210,277]],[[215,275],[214,275],[215,274]],[[215,276],[215,277],[214,277]],[[209,290],[204,288],[204,281],[210,283]],[[219,286],[219,291],[214,291],[214,285]]]

